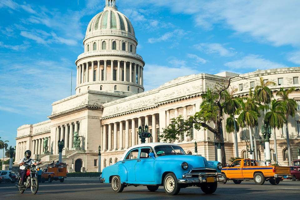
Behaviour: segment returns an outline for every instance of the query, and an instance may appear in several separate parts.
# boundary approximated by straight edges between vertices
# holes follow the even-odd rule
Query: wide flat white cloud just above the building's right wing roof
[[[271,69],[271,68],[282,68],[287,67],[281,63],[275,63],[270,60],[261,58],[259,55],[248,55],[240,60],[231,61],[224,64],[230,69]]]

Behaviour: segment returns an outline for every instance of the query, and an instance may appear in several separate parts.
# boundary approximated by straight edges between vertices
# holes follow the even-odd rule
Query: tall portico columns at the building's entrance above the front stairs
[[[58,141],[64,140],[65,142],[65,149],[73,148],[73,133],[79,133],[79,128],[81,125],[81,121],[66,123],[61,126],[56,127],[56,134],[55,134],[55,151],[54,154],[58,154]]]

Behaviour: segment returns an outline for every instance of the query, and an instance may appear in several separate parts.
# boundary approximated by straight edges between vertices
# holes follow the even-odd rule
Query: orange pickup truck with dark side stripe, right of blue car
[[[282,179],[293,178],[289,167],[258,166],[257,161],[252,159],[237,159],[229,167],[222,168],[221,173],[225,183],[233,180],[235,184],[240,184],[243,180],[254,180],[257,185],[262,185],[265,181],[277,185]]]

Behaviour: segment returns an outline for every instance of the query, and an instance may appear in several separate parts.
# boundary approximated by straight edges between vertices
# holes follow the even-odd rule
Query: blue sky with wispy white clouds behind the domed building
[[[75,93],[75,60],[105,0],[0,1],[0,137],[47,120]],[[183,75],[300,65],[300,1],[117,0],[150,90]],[[0,156],[2,153],[0,153]]]

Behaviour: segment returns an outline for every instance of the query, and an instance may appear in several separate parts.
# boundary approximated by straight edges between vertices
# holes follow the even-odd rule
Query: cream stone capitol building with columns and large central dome
[[[77,66],[76,94],[52,104],[49,120],[22,125],[17,129],[16,160],[25,150],[32,151],[33,158],[39,155],[43,163],[58,160],[58,141],[64,139],[63,162],[73,170],[98,171],[98,147],[101,145],[101,169],[118,162],[125,150],[140,144],[138,127],[148,125],[152,138],[146,143],[158,142],[159,135],[172,123],[172,118],[182,115],[187,119],[199,111],[201,95],[217,83],[227,83],[236,73],[192,74],[179,77],[158,88],[144,91],[144,66],[142,56],[137,53],[138,40],[129,19],[118,12],[115,0],[106,0],[104,10],[89,22],[83,39],[84,53],[75,61]],[[145,74],[147,76],[147,74]],[[297,101],[294,118],[289,118],[288,130],[292,160],[297,159],[300,148],[300,68],[277,68],[257,70],[240,74],[234,78],[230,90],[237,89],[236,95],[245,96],[250,88],[260,84],[260,77],[276,83],[270,86],[274,94],[281,88],[295,87],[290,98]],[[277,98],[275,96],[275,98]],[[226,118],[223,120],[225,130]],[[261,136],[263,119],[259,119],[252,133]],[[74,144],[74,133],[79,144]],[[208,130],[192,129],[190,136],[184,134],[175,143],[186,153],[198,154],[208,160],[216,160],[214,135]],[[224,131],[227,161],[230,157],[249,158],[249,130],[240,128],[238,135],[239,155],[234,151],[234,133]],[[285,126],[277,130],[278,161],[288,165]],[[273,134],[270,141],[271,159],[274,161]],[[47,148],[43,148],[44,142]],[[264,148],[257,141],[258,159],[264,160]],[[229,162],[229,161],[228,161]],[[71,169],[68,169],[69,171]]]

